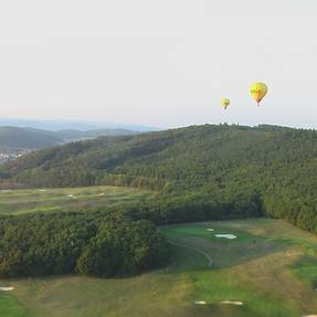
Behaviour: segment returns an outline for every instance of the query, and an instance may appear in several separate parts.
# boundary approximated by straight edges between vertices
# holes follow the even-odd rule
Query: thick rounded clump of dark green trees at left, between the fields
[[[0,218],[0,277],[127,276],[162,265],[168,252],[152,222],[119,212]]]

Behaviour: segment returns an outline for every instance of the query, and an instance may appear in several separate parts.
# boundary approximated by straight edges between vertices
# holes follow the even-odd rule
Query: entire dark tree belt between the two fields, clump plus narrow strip
[[[263,214],[258,194],[214,189],[160,194],[142,203],[0,218],[0,277],[61,274],[127,276],[168,262],[156,225]]]

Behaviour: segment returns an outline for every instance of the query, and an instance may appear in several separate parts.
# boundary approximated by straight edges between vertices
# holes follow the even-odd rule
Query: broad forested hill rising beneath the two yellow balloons
[[[0,175],[7,184],[133,186],[200,194],[213,204],[236,205],[246,197],[251,209],[261,204],[305,229],[300,222],[317,223],[315,130],[204,125],[103,137],[33,152]]]

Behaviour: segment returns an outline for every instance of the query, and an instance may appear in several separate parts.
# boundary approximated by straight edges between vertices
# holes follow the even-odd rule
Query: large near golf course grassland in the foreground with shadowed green
[[[214,232],[207,229],[214,229]],[[278,220],[203,222],[161,228],[170,265],[121,279],[78,276],[2,281],[0,316],[292,317],[317,314],[317,237]],[[215,237],[231,233],[237,237]],[[208,258],[190,249],[210,255]],[[205,300],[208,305],[194,305]],[[243,306],[220,304],[241,300]]]

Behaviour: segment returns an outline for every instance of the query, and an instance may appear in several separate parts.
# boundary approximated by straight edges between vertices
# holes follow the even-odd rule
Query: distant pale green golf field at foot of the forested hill
[[[20,214],[34,211],[73,211],[133,202],[149,197],[149,192],[109,186],[1,190],[0,214]]]

